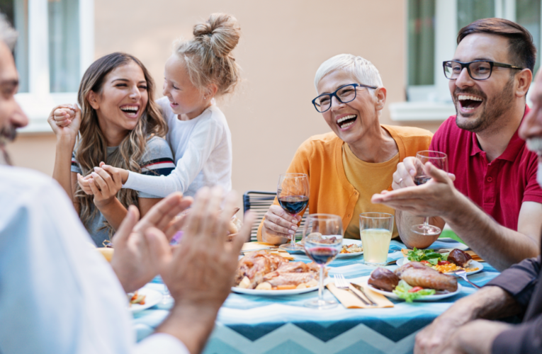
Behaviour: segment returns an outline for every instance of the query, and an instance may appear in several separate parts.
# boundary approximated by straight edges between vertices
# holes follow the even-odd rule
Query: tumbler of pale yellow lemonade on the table
[[[362,212],[359,235],[366,265],[385,265],[393,232],[393,215],[386,212]]]

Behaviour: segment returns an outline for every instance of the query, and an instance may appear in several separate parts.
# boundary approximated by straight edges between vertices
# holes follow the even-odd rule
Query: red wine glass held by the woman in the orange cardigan
[[[278,204],[290,215],[298,215],[309,203],[309,178],[305,173],[283,173],[278,176]],[[290,244],[282,244],[286,251],[303,251],[303,247],[295,243],[295,234]]]

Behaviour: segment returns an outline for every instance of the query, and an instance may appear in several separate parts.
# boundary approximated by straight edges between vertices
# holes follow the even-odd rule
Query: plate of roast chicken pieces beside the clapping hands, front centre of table
[[[324,272],[327,276],[327,270]],[[314,262],[290,262],[266,251],[252,252],[239,260],[233,292],[281,296],[318,289],[320,268]]]

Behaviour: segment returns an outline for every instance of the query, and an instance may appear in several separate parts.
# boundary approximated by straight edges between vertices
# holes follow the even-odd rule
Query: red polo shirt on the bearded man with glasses
[[[452,115],[436,131],[430,149],[448,154],[456,188],[504,227],[517,231],[522,202],[542,203],[542,189],[536,182],[537,156],[517,131],[502,155],[487,162],[475,133],[459,128]]]

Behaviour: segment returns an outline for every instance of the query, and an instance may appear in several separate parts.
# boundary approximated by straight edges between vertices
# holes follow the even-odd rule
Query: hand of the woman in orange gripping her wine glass
[[[270,244],[284,244],[298,229],[300,216],[288,214],[279,205],[271,205],[267,210],[264,226],[261,229],[262,241]]]

